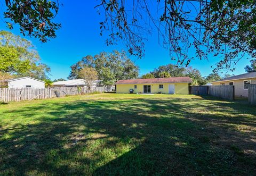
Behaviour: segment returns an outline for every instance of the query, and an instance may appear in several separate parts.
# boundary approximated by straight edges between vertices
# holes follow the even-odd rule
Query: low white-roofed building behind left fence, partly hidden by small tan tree
[[[99,86],[100,80],[95,80],[94,81],[94,87]],[[71,79],[67,81],[57,81],[53,82],[54,87],[83,87],[86,86],[85,80],[84,79]]]

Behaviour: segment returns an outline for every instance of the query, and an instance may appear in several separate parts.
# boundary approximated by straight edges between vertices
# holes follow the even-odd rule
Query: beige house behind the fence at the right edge
[[[239,74],[212,82],[212,85],[233,85],[235,86],[235,96],[248,97],[248,86],[256,84],[256,72]]]

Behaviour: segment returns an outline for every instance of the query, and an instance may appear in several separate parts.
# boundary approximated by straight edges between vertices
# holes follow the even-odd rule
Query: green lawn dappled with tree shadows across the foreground
[[[0,104],[0,175],[254,175],[255,110],[194,95]]]

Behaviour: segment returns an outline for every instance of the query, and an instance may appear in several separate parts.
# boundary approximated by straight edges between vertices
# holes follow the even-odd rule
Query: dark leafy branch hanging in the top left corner
[[[47,0],[5,0],[7,6],[4,17],[19,24],[20,32],[31,35],[46,42],[49,38],[55,38],[55,31],[61,27],[59,23],[53,22],[59,11],[59,1]],[[13,24],[7,22],[7,26],[13,29]]]

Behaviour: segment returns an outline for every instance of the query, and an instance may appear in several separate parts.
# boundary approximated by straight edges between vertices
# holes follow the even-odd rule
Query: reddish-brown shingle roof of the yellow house
[[[117,81],[116,85],[134,84],[134,83],[178,83],[192,82],[189,77],[171,77],[171,78],[150,78],[150,79],[123,79]]]

